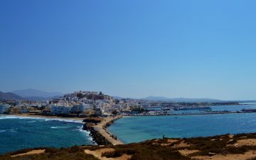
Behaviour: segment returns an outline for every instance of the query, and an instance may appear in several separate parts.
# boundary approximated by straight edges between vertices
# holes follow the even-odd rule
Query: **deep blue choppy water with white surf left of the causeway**
[[[0,115],[0,154],[34,147],[93,144],[79,121]]]

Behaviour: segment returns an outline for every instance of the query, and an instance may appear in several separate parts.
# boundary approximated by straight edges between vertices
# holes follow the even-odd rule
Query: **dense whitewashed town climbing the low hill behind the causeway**
[[[87,117],[88,115],[107,117],[110,114],[140,108],[134,100],[114,100],[102,92],[78,91],[63,97],[46,101],[16,100],[2,102],[0,114],[41,114],[62,117]]]

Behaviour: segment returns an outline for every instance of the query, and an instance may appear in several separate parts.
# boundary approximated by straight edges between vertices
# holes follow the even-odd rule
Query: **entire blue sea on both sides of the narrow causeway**
[[[215,106],[213,111],[256,109],[256,103]],[[177,111],[176,114],[203,111]],[[114,121],[107,129],[125,144],[164,137],[208,137],[256,132],[256,113],[134,116]],[[24,148],[95,144],[82,122],[71,119],[0,115],[0,154]]]

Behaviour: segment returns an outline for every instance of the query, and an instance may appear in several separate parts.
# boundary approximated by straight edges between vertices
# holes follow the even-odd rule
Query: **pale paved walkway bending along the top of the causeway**
[[[93,126],[95,131],[99,132],[102,135],[102,137],[105,137],[105,139],[107,139],[107,141],[110,142],[110,144],[112,144],[112,145],[124,144],[123,142],[121,142],[118,139],[118,137],[114,137],[114,135],[112,133],[110,133],[109,131],[107,131],[107,129],[106,129],[106,127],[108,125],[112,124],[112,122],[114,122],[114,120],[119,119],[119,118],[122,118],[122,116],[106,117],[102,120],[102,122]]]

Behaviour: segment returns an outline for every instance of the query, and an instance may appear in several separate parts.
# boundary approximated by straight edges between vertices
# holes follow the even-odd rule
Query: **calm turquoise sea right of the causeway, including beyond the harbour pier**
[[[240,111],[242,109],[256,109],[256,103],[212,107],[215,111]],[[107,129],[122,142],[128,144],[142,142],[146,139],[159,139],[163,136],[188,138],[256,132],[255,117],[256,113],[133,116],[118,119]]]

